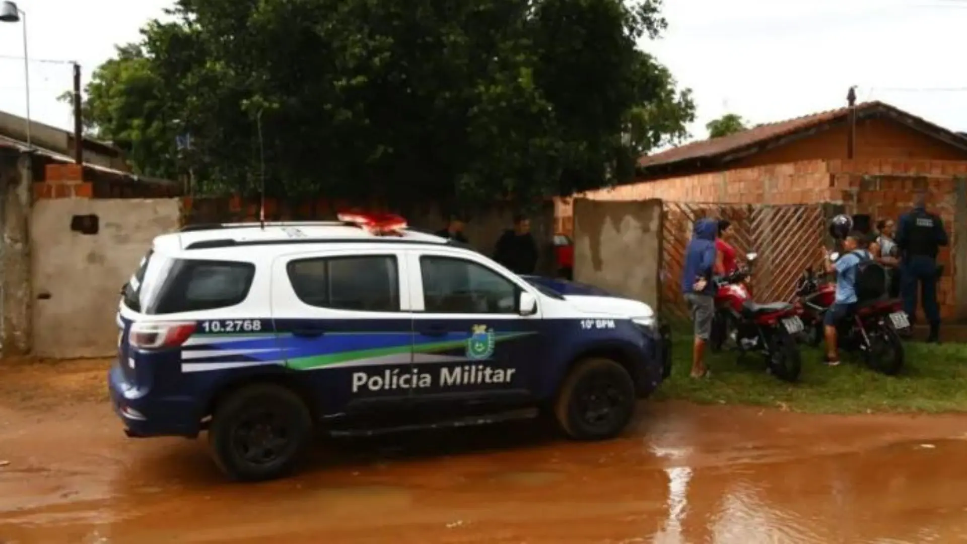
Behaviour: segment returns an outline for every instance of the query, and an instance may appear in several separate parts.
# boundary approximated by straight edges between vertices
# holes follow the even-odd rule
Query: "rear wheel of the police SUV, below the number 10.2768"
[[[306,403],[281,385],[260,383],[220,400],[208,444],[222,472],[251,482],[275,479],[291,470],[311,436]]]

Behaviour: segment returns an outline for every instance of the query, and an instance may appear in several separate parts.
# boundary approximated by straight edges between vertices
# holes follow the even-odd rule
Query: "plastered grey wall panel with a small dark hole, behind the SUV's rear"
[[[152,239],[178,227],[179,213],[176,198],[38,200],[30,219],[34,353],[113,354],[118,291]],[[87,214],[99,217],[99,232],[71,230],[71,218]]]

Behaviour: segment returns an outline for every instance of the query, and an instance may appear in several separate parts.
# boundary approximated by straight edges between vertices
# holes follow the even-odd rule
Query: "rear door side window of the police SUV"
[[[395,256],[312,257],[286,266],[292,289],[309,306],[360,312],[399,311]]]

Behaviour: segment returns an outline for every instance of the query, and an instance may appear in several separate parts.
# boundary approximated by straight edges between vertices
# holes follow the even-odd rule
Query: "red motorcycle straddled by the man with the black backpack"
[[[839,257],[833,253],[830,258]],[[823,344],[823,317],[835,302],[836,286],[832,275],[816,274],[806,268],[796,285],[797,307],[806,324],[806,343]],[[899,299],[883,296],[860,302],[856,310],[836,327],[838,348],[859,352],[866,366],[894,376],[903,368],[903,343],[899,333],[910,329],[910,318]]]

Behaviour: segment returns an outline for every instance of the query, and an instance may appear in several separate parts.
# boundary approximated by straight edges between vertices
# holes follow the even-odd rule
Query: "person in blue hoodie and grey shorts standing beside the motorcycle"
[[[685,252],[682,294],[689,303],[691,320],[695,325],[695,344],[691,350],[692,378],[704,378],[708,374],[704,356],[705,343],[712,335],[712,317],[716,313],[712,267],[716,264],[717,233],[718,221],[708,218],[696,221]]]

